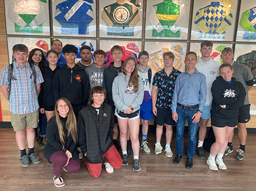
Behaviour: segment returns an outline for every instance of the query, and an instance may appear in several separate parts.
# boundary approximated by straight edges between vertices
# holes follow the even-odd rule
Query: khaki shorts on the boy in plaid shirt
[[[25,127],[37,128],[39,110],[29,114],[13,114],[10,112],[10,121],[12,123],[14,132],[19,132]]]

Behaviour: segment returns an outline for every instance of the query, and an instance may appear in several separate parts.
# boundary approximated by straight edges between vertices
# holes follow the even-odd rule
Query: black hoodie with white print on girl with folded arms
[[[238,109],[243,105],[246,97],[242,83],[236,81],[235,77],[232,77],[232,82],[228,83],[218,76],[213,81],[211,91],[213,95],[211,115],[226,119],[238,118]],[[220,105],[226,105],[226,108],[223,109]]]

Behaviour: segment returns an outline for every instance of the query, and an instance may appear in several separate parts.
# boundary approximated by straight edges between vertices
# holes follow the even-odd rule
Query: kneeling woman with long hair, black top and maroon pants
[[[56,187],[65,186],[61,169],[76,173],[80,169],[80,159],[76,145],[78,142],[76,116],[66,98],[59,98],[54,106],[55,116],[47,124],[48,143],[44,147],[44,157],[53,164],[53,180]]]

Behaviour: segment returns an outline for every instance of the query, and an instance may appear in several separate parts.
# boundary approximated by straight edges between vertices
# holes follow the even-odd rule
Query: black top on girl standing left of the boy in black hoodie
[[[51,107],[55,105],[53,94],[53,77],[58,69],[60,69],[59,65],[57,65],[54,70],[50,69],[49,65],[47,65],[41,70],[44,82],[41,84],[41,91],[38,96],[40,108],[44,108],[44,105]]]

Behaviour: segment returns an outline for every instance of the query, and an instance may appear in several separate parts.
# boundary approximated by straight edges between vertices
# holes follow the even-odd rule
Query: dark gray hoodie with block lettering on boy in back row
[[[98,68],[95,63],[86,68],[86,73],[90,81],[90,88],[103,85],[103,71],[105,68],[107,68],[105,64],[103,67]]]

